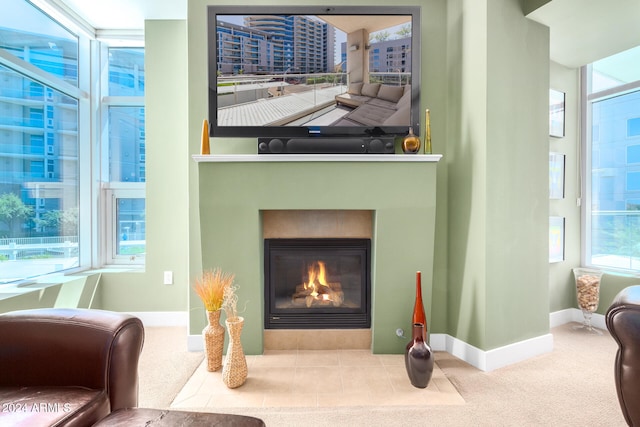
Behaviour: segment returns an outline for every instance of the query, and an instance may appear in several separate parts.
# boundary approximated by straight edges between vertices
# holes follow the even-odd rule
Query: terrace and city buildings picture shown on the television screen
[[[215,123],[409,126],[411,19],[217,15]]]

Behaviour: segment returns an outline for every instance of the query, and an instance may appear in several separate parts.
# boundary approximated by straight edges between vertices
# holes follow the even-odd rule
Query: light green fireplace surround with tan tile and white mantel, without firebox
[[[396,330],[410,332],[418,270],[430,312],[439,158],[194,156],[203,268],[220,266],[236,274],[247,354],[294,348],[404,350],[406,340]],[[274,237],[371,238],[371,329],[264,330],[263,239]],[[205,316],[193,296],[190,305],[190,334],[197,336]]]

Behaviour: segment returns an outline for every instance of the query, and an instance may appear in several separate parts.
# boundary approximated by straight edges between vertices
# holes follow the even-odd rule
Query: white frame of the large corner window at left
[[[144,267],[145,256],[112,256],[117,245],[113,234],[115,209],[111,197],[145,198],[145,182],[110,183],[108,181],[108,108],[109,106],[134,106],[145,108],[144,96],[109,97],[107,94],[110,47],[144,49],[144,32],[140,30],[96,30],[65,9],[52,7],[47,0],[23,0],[38,13],[64,27],[77,38],[78,63],[77,86],[60,77],[26,62],[10,52],[0,49],[0,65],[23,75],[45,87],[45,97],[52,90],[77,101],[77,197],[78,197],[78,264],[63,271],[50,272],[37,277],[21,278],[0,287],[12,286],[24,280],[38,280],[46,276],[68,275],[92,268],[127,265]],[[47,111],[39,119],[46,125]],[[145,130],[143,129],[142,132]],[[56,147],[43,139],[38,145],[44,160],[39,165],[47,175],[46,157],[55,154]],[[106,156],[105,156],[106,149]],[[105,168],[105,162],[107,168]],[[106,178],[105,178],[106,174]],[[36,204],[38,201],[36,201]],[[145,202],[146,204],[146,202]],[[146,219],[145,219],[146,222]],[[107,232],[107,230],[109,232]]]

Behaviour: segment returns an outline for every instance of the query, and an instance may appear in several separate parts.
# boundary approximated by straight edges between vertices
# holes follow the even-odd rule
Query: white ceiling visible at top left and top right
[[[187,0],[50,0],[95,29],[144,28],[145,19],[186,19]],[[550,27],[551,59],[579,67],[640,45],[640,0],[552,0],[528,16]]]

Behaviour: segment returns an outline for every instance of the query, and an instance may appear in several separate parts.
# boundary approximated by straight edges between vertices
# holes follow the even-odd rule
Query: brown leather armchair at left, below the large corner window
[[[0,315],[0,425],[90,426],[138,404],[140,319],[89,309]]]

